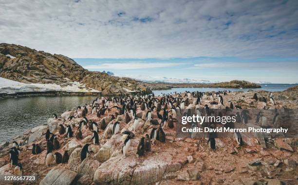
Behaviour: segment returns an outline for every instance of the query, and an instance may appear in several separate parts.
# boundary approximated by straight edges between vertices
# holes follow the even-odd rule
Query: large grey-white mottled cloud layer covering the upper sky
[[[297,57],[297,7],[297,0],[0,0],[0,42],[72,58]]]

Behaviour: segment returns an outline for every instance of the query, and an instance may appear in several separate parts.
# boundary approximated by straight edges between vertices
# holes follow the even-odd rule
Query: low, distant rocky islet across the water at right
[[[149,83],[154,85],[154,89],[168,89],[168,88],[177,88],[177,87],[210,87],[210,88],[260,88],[261,86],[255,83],[247,82],[247,81],[240,81],[240,80],[232,80],[230,82],[220,82],[220,83],[210,83],[210,84],[203,84],[203,83]]]

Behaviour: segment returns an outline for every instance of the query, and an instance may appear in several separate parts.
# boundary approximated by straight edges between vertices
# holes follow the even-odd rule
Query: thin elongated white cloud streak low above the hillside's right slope
[[[86,69],[142,69],[142,68],[160,68],[175,67],[182,63],[143,63],[143,62],[126,62],[126,63],[103,63],[98,65],[83,66]]]

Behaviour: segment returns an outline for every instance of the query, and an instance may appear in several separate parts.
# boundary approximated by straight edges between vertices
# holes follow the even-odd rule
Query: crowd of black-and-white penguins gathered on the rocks
[[[215,94],[212,93],[204,93],[204,92],[186,92],[186,93],[174,93],[173,94],[161,94],[159,96],[151,95],[142,95],[142,96],[127,96],[127,97],[108,97],[108,98],[96,98],[92,102],[92,104],[85,104],[83,106],[78,106],[76,108],[74,116],[68,118],[68,124],[59,124],[58,125],[58,134],[51,133],[48,129],[43,135],[45,139],[45,146],[43,144],[32,144],[32,154],[39,155],[43,150],[46,150],[46,156],[44,159],[44,163],[46,166],[53,165],[54,163],[68,163],[69,153],[67,150],[64,150],[62,153],[56,151],[61,148],[60,139],[61,138],[72,138],[74,137],[78,140],[84,139],[82,131],[90,130],[92,132],[92,138],[90,143],[85,144],[82,147],[80,153],[81,162],[88,158],[91,155],[90,152],[90,144],[99,145],[100,138],[103,135],[99,135],[100,130],[105,130],[107,125],[115,119],[112,125],[111,134],[119,135],[123,142],[122,150],[123,156],[126,157],[129,155],[131,140],[134,139],[136,133],[145,133],[143,137],[141,137],[138,142],[137,150],[135,154],[137,157],[146,155],[146,152],[150,151],[156,145],[156,141],[159,141],[161,144],[165,143],[167,138],[164,132],[165,129],[174,129],[176,122],[177,112],[181,109],[190,109],[195,108],[198,112],[197,114],[208,114],[209,107],[208,105],[204,105],[205,113],[200,113],[199,107],[202,105],[202,100],[210,100],[210,104],[221,104],[223,103],[223,96],[225,96],[230,91],[218,91]],[[222,96],[223,95],[223,96]],[[193,102],[195,107],[189,107],[193,104],[189,103],[191,98],[197,98],[196,101]],[[274,105],[275,101],[273,99],[272,93],[269,94],[269,100]],[[252,99],[256,101],[266,101],[264,97],[258,98],[257,94],[254,94]],[[240,105],[233,105],[232,102],[229,103],[229,106],[225,106],[226,109],[239,109],[242,110]],[[137,117],[137,110],[142,110],[146,112],[145,123],[140,125],[140,119]],[[110,114],[113,112],[113,114]],[[105,115],[109,115],[105,117]],[[156,114],[157,118],[153,118],[152,114]],[[184,114],[188,114],[185,112]],[[97,118],[100,119],[99,122],[95,122],[94,120],[88,120],[88,115],[96,115]],[[274,125],[276,125],[279,114],[277,113],[274,118]],[[238,118],[237,122],[242,122],[243,124],[247,124],[247,119],[249,117],[249,113],[243,110],[241,113],[236,114],[236,118]],[[63,118],[58,118],[56,114],[53,114],[53,118],[56,120],[60,120],[66,122]],[[78,124],[78,127],[75,126],[74,120],[76,118],[82,118]],[[118,118],[121,118],[118,120]],[[128,124],[130,121],[133,122],[132,129],[126,130],[122,133],[121,124]],[[266,122],[266,117],[260,112],[258,114],[256,123],[260,123],[261,127],[267,127],[268,124]],[[192,123],[192,127],[196,125]],[[214,124],[205,125],[210,128],[214,128]],[[232,126],[226,124],[226,126]],[[122,126],[123,127],[123,126]],[[152,128],[149,130],[149,127]],[[74,132],[75,131],[75,132]],[[239,145],[242,145],[242,136],[239,132],[234,133],[236,142]],[[195,135],[191,135],[192,138]],[[212,150],[216,149],[215,143],[216,133],[210,133],[208,136],[207,144],[210,143],[210,148]],[[44,149],[45,148],[45,149]],[[13,147],[9,151],[10,157],[10,165],[14,168],[15,175],[22,175],[23,169],[20,161],[22,160],[21,151],[19,148],[19,144],[14,141]]]

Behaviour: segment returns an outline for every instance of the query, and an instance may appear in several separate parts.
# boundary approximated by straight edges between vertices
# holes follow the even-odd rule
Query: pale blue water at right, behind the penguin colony
[[[261,88],[251,88],[253,90],[265,90],[265,91],[271,91],[271,92],[276,92],[276,91],[284,91],[288,89],[289,87],[296,86],[298,84],[260,84]],[[244,91],[247,92],[249,89],[234,89],[234,88],[172,88],[169,90],[155,90],[153,93],[155,95],[160,95],[160,93],[172,93],[172,92],[193,92],[193,91],[199,91],[199,92],[206,92],[206,91],[219,91],[219,90],[230,90],[230,91]]]

